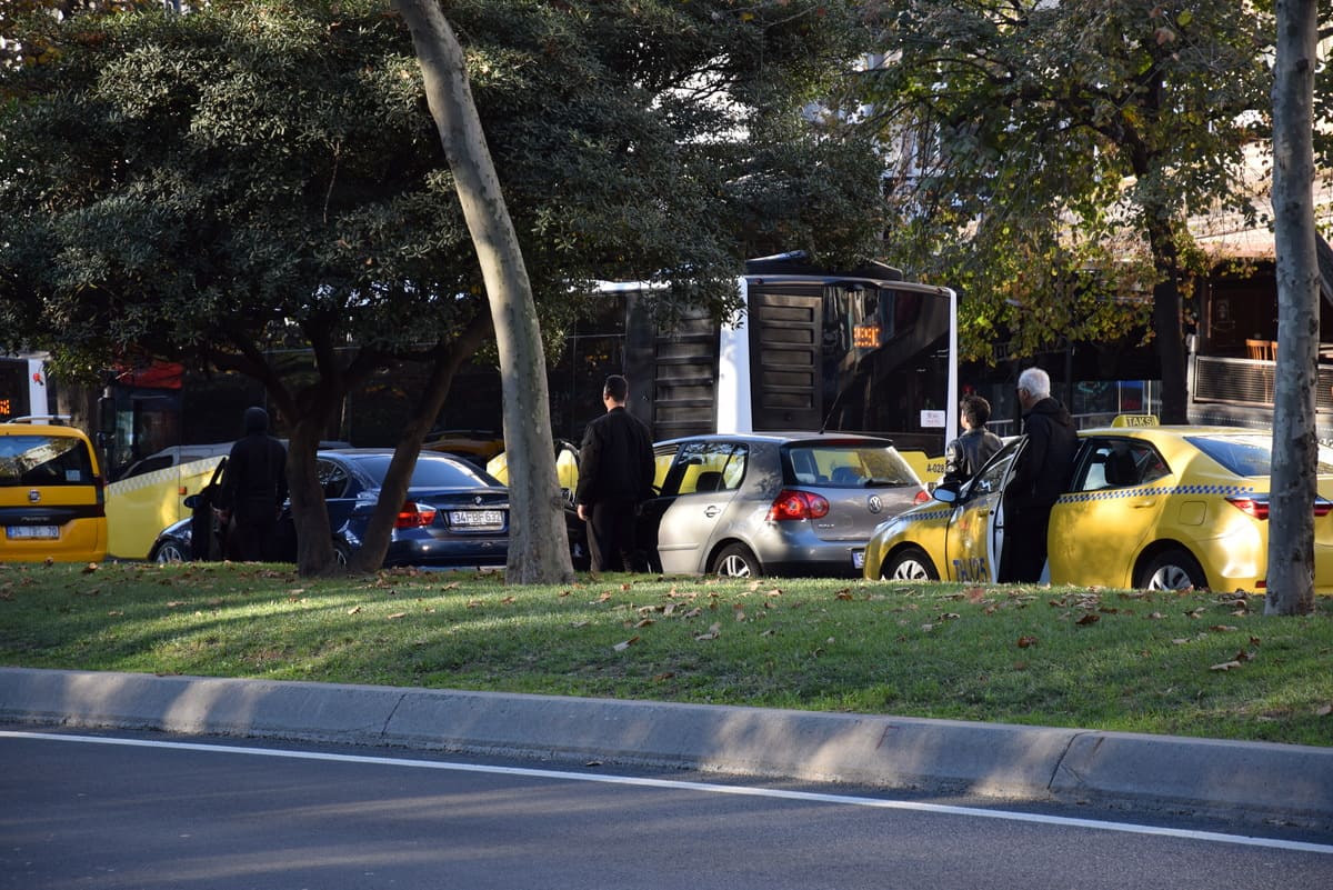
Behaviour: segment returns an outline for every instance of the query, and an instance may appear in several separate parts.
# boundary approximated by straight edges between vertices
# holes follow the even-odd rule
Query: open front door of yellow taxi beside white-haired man
[[[994,584],[1004,553],[1004,486],[1022,440],[1009,442],[962,490],[945,541],[945,572],[952,581]]]

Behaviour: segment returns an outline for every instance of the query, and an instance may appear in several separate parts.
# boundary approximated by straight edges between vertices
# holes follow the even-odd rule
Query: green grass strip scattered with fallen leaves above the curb
[[[0,665],[1333,745],[1333,601],[1262,610],[1205,592],[0,564]]]

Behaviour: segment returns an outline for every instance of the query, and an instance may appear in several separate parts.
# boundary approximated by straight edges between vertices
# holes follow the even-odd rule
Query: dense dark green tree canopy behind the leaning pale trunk
[[[0,69],[0,346],[51,349],[67,374],[165,357],[264,381],[307,456],[293,506],[321,521],[313,449],[348,389],[485,338],[411,39],[384,0],[127,5],[5,21],[43,51]],[[548,329],[581,310],[580,281],[716,284],[756,253],[873,245],[873,147],[804,113],[865,48],[856,4],[449,17]],[[311,350],[317,378],[283,349]],[[332,556],[305,553],[317,537],[303,572]]]

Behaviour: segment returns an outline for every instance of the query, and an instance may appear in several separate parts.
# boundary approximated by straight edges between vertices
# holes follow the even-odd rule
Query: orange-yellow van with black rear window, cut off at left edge
[[[0,424],[0,562],[100,562],[107,501],[88,437],[59,417]]]

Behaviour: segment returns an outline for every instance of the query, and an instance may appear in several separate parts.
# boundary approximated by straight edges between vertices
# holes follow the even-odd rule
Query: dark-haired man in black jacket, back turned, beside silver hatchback
[[[607,413],[584,430],[579,452],[579,518],[588,522],[593,572],[643,570],[635,554],[635,514],[652,497],[653,437],[648,425],[625,410],[629,382],[607,378]]]

